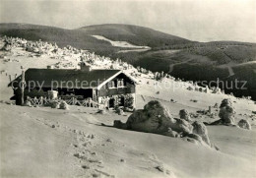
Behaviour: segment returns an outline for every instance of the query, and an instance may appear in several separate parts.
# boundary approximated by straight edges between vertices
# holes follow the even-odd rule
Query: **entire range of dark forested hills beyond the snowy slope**
[[[236,96],[251,95],[256,99],[256,70],[247,62],[256,61],[256,44],[237,41],[195,42],[158,30],[131,25],[97,25],[76,30],[26,25],[0,24],[0,35],[18,36],[30,40],[56,42],[60,47],[72,45],[87,49],[111,59],[120,58],[135,66],[154,72],[168,72],[170,75],[192,81],[234,81],[236,78],[248,81],[247,90],[229,90]],[[150,46],[151,50],[129,52],[113,46],[107,40],[127,41],[138,46]],[[120,52],[119,51],[127,51]],[[239,67],[236,72],[235,67]],[[231,71],[231,74],[230,74]],[[235,76],[231,77],[233,74]],[[231,78],[230,78],[231,77]]]

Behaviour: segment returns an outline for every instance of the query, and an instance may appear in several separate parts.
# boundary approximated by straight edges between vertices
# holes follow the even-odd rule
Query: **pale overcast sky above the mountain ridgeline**
[[[0,22],[65,29],[129,24],[198,41],[256,42],[256,0],[0,0]]]

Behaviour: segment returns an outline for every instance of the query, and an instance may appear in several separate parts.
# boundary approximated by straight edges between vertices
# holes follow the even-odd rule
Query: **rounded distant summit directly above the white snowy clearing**
[[[158,47],[162,45],[184,44],[192,42],[175,35],[131,25],[98,25],[80,28],[88,34],[102,35],[112,40],[128,41],[136,45]]]

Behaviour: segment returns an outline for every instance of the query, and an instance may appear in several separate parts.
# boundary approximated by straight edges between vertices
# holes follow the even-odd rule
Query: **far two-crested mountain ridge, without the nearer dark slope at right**
[[[56,42],[59,46],[72,45],[94,51],[116,52],[116,47],[108,41],[99,40],[92,35],[102,35],[111,40],[128,41],[135,45],[160,47],[191,42],[187,39],[151,30],[148,28],[131,25],[98,25],[76,30],[65,30],[54,27],[29,25],[29,24],[0,24],[0,34],[23,37],[30,40],[45,40]]]

